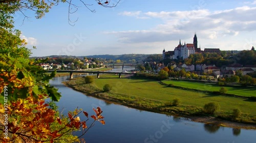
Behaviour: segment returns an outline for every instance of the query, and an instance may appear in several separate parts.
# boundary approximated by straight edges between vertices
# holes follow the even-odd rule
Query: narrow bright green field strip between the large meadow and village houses
[[[201,91],[219,91],[220,86],[212,83],[201,83],[201,82],[189,82],[189,81],[177,81],[177,80],[163,80],[163,83],[174,84],[175,86],[197,89]],[[256,96],[256,88],[243,88],[243,87],[225,87],[227,94],[240,95],[240,96]]]

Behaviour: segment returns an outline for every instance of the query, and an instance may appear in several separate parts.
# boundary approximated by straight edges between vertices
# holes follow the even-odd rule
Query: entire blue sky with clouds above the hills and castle
[[[103,8],[94,0],[92,13],[81,6],[70,15],[68,5],[53,7],[35,19],[31,11],[14,15],[15,28],[22,31],[32,56],[161,53],[181,42],[221,50],[248,50],[256,46],[256,1],[165,1],[121,0],[115,8]],[[112,3],[117,0],[112,0]]]

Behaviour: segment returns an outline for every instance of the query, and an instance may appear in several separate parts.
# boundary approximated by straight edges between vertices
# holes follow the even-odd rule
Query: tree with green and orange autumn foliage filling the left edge
[[[38,66],[43,61],[29,59],[31,49],[20,38],[21,32],[14,29],[16,11],[33,10],[36,18],[41,18],[60,2],[68,3],[65,0],[0,1],[0,142],[80,142],[79,138],[95,122],[105,124],[99,107],[93,109],[95,115],[90,117],[78,108],[64,116],[51,105],[61,97],[49,84],[55,72],[48,75]],[[102,6],[108,4],[105,1]],[[46,103],[49,98],[51,102]],[[86,120],[80,121],[81,116]],[[87,125],[89,119],[93,122]],[[78,130],[79,136],[72,134]]]

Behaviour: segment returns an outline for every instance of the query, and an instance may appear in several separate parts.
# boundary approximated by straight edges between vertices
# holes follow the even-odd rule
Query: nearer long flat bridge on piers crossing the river
[[[47,72],[53,72],[54,70],[48,70]],[[99,74],[118,74],[118,77],[121,78],[121,74],[131,74],[135,75],[136,73],[129,73],[129,72],[104,72],[104,71],[88,71],[88,70],[56,70],[56,72],[69,72],[69,78],[73,78],[73,73],[93,73],[97,74],[97,78],[99,78]]]

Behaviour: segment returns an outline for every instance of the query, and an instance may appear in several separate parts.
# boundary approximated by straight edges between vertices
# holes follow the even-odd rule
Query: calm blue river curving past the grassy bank
[[[113,69],[116,70],[116,69]],[[119,69],[120,70],[120,69]],[[129,70],[129,69],[124,69]],[[255,130],[232,129],[203,123],[191,122],[183,118],[175,118],[160,113],[141,111],[122,105],[104,102],[86,96],[65,87],[61,82],[68,77],[55,77],[51,85],[58,88],[62,97],[57,105],[67,115],[76,107],[93,115],[92,108],[97,106],[103,110],[105,125],[97,122],[83,137],[89,143],[121,142],[121,143],[154,143],[154,142],[189,142],[189,143],[250,143],[256,142]],[[83,115],[81,120],[86,120]],[[92,121],[92,119],[90,120]],[[89,125],[90,122],[87,124]],[[75,134],[79,135],[79,132]]]

